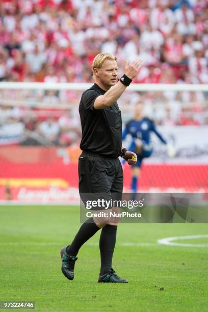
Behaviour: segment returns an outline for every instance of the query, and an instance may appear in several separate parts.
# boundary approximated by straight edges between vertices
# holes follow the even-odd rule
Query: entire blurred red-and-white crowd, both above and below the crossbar
[[[124,60],[143,60],[135,83],[207,84],[207,16],[206,0],[1,0],[0,83],[91,83],[93,58],[108,51],[118,58],[119,76]],[[0,144],[14,124],[21,144],[79,142],[80,94],[2,90]],[[124,122],[139,100],[157,124],[208,124],[205,93],[125,93]]]

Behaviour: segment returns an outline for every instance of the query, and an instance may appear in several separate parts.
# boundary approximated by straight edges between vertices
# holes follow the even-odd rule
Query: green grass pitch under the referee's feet
[[[81,248],[73,281],[60,270],[60,248],[80,227],[79,207],[0,206],[0,216],[0,301],[35,301],[36,311],[208,309],[208,248],[157,244],[206,235],[207,224],[120,224],[113,268],[129,283],[98,284],[99,232]]]

